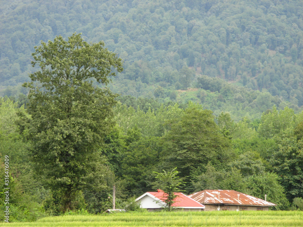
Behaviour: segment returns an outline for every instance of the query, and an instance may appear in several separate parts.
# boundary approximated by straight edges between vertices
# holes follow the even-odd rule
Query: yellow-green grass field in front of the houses
[[[134,212],[57,216],[0,226],[303,226],[301,211]]]

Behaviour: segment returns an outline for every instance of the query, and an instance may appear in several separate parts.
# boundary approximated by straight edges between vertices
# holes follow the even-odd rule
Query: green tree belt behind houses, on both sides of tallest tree
[[[154,171],[175,167],[186,193],[233,189],[260,198],[267,194],[268,201],[278,205],[275,209],[295,209],[291,203],[303,196],[303,112],[273,107],[259,122],[234,122],[227,112],[214,117],[211,110],[192,102],[181,108],[135,101],[142,109],[120,101],[115,105],[115,125],[98,150],[101,160],[94,174],[99,182],[78,191],[72,209],[98,213],[111,208],[114,184],[116,207],[128,208],[133,196],[153,190]],[[151,105],[158,109],[151,110]],[[1,98],[0,149],[2,157],[10,157],[12,217],[35,220],[59,214],[60,192],[37,178],[33,143],[28,131],[20,134],[17,113],[29,117],[24,106]]]

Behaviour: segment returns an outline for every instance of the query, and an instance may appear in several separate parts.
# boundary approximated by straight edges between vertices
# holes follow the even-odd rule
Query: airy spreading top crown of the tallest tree
[[[108,84],[108,76],[114,76],[112,67],[122,71],[121,59],[116,54],[104,48],[104,43],[92,45],[83,41],[81,34],[75,33],[65,41],[62,36],[48,43],[41,42],[32,54],[34,61],[41,71],[30,75],[32,81],[39,81],[46,90],[58,94],[61,89],[86,85],[84,80],[94,77],[98,82]],[[50,68],[49,68],[50,67]],[[27,87],[33,88],[27,84]],[[63,85],[62,87],[60,85]],[[60,90],[54,91],[55,88]],[[32,94],[32,93],[31,93]],[[30,96],[31,98],[31,96]]]

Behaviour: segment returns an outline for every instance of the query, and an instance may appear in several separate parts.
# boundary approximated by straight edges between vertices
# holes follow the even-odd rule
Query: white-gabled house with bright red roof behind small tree
[[[184,211],[202,211],[205,207],[183,193],[175,192],[174,194],[177,196],[175,198],[175,203],[172,205],[175,209]],[[166,198],[165,193],[158,190],[158,192],[146,192],[135,201],[140,203],[141,208],[145,208],[148,211],[158,211],[166,207],[166,203],[164,202]]]

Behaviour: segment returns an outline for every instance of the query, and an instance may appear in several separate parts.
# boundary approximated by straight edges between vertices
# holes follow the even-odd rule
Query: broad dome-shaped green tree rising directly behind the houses
[[[220,168],[229,160],[230,143],[219,133],[211,111],[190,103],[170,127],[162,137],[164,165],[178,166],[187,182],[192,171],[203,173],[209,162]]]

